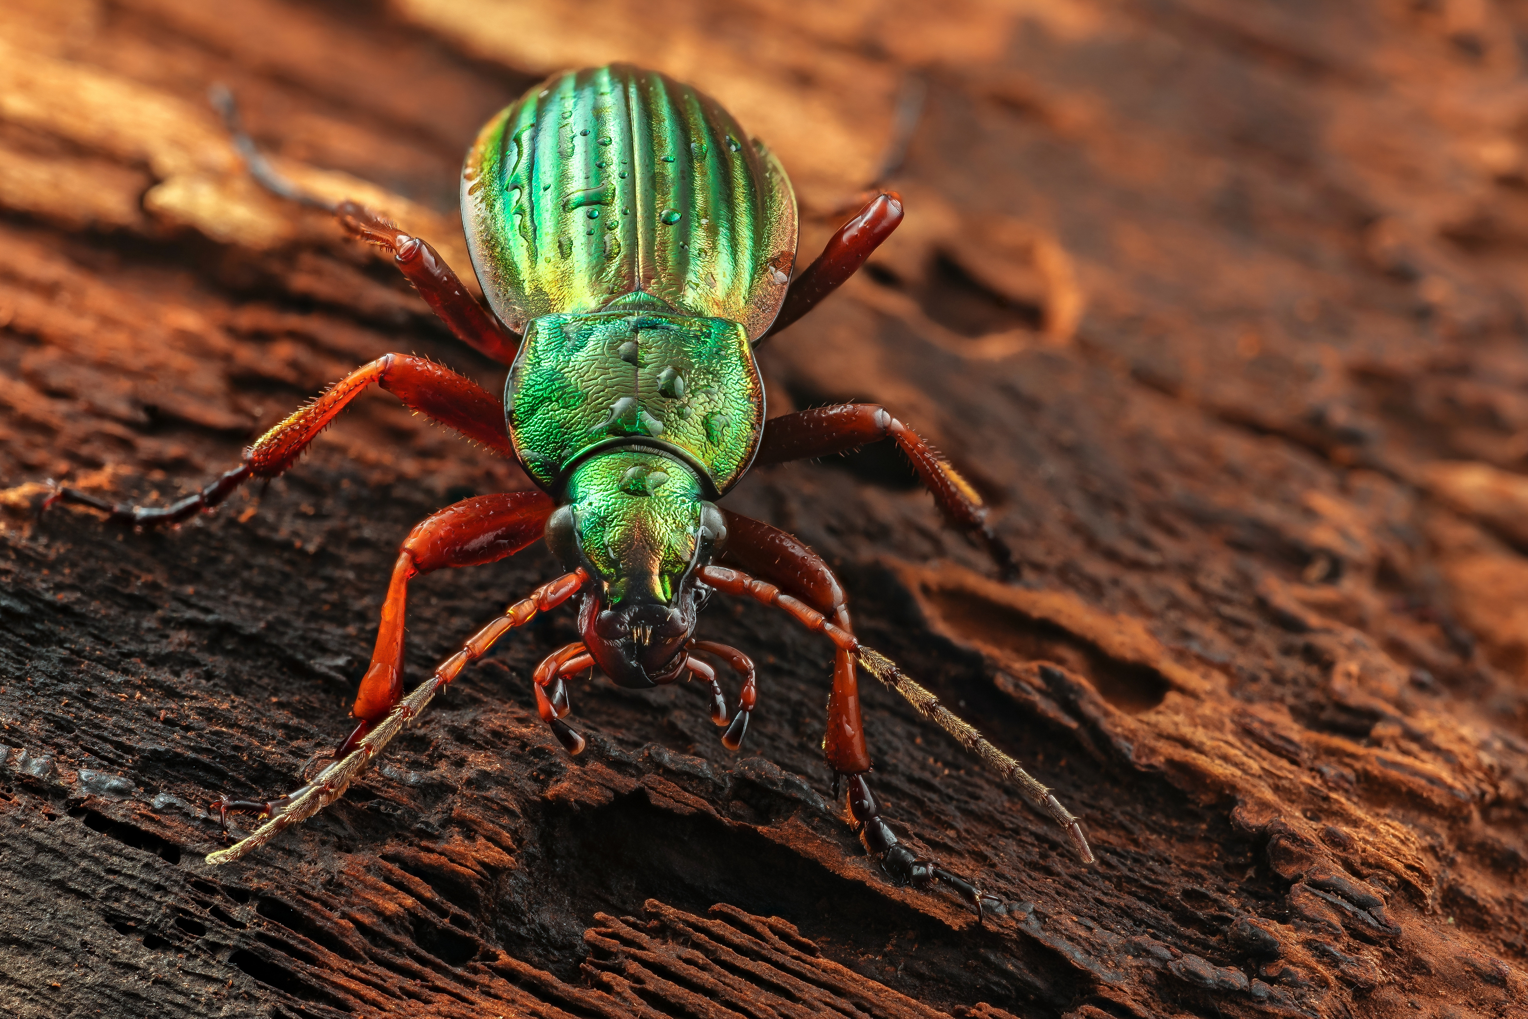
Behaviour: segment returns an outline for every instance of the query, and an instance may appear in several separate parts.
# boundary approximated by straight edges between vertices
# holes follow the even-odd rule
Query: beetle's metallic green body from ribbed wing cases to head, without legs
[[[672,599],[758,449],[752,342],[796,255],[779,162],[715,101],[613,64],[556,75],[468,154],[472,266],[524,333],[504,393],[547,538],[610,610]],[[607,669],[608,671],[608,669]]]

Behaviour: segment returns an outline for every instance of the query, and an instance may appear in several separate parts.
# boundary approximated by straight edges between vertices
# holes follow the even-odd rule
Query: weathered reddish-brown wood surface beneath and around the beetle
[[[1507,1016],[1528,959],[1528,76],[1520,2],[0,5],[0,1002],[14,1016]],[[927,86],[902,232],[766,356],[967,466],[1025,579],[888,451],[730,498],[839,564],[869,643],[1082,813],[1088,869],[868,691],[888,814],[1012,904],[891,888],[828,797],[830,654],[758,655],[741,759],[695,689],[471,669],[347,799],[211,869],[203,805],[344,732],[394,548],[507,463],[365,399],[261,501],[168,500],[388,350],[497,388],[307,186],[465,269],[457,167],[536,76],[695,81],[796,176],[804,254]],[[552,574],[417,582],[414,677]],[[718,904],[721,903],[721,904]],[[773,917],[762,920],[761,917]],[[906,996],[906,998],[903,998]],[[1516,1014],[1522,1014],[1516,1011]]]

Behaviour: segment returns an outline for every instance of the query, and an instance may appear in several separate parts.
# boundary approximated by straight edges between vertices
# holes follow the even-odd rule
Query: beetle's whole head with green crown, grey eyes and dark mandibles
[[[588,571],[579,629],[594,663],[619,686],[672,683],[711,594],[695,570],[726,541],[721,510],[691,467],[646,449],[585,460],[567,500],[547,544],[568,570]]]

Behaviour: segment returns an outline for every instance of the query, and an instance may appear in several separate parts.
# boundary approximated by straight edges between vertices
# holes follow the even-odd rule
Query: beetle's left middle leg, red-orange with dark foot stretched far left
[[[318,434],[361,393],[376,382],[397,396],[406,406],[448,425],[468,438],[489,449],[515,458],[515,449],[504,431],[504,406],[498,397],[472,379],[458,376],[425,357],[413,354],[384,354],[368,365],[356,368],[327,393],[307,403],[284,422],[260,437],[244,451],[244,463],[223,474],[217,481],[196,495],[170,506],[131,506],[108,503],[78,489],[60,487],[43,503],[73,503],[105,510],[107,521],[153,527],[156,524],[180,524],[197,513],[219,506],[234,489],[249,478],[274,478],[284,474],[318,438]]]

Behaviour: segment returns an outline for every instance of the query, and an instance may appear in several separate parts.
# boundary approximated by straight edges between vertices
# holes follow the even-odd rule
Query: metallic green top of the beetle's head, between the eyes
[[[695,555],[701,498],[700,478],[662,454],[626,448],[573,471],[573,527],[608,605],[674,597]]]

